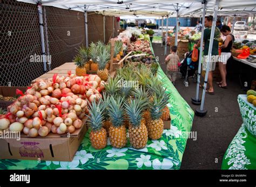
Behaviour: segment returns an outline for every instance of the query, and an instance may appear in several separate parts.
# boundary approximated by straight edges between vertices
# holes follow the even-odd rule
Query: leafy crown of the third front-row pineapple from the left
[[[130,123],[138,127],[142,121],[143,100],[135,98],[130,103],[125,103],[125,111]]]

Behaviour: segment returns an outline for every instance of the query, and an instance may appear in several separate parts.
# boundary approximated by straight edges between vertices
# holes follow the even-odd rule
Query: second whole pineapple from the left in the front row
[[[112,96],[109,103],[109,116],[112,125],[109,128],[110,142],[113,147],[122,148],[126,145],[126,128],[124,126],[124,98]]]

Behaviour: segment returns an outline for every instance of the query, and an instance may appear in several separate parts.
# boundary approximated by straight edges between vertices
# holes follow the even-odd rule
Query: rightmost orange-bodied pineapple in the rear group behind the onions
[[[101,45],[101,44],[99,44]],[[99,61],[98,61],[98,67],[99,70],[97,71],[97,75],[100,77],[102,81],[107,81],[107,78],[109,78],[109,71],[107,71],[106,63],[110,59],[110,51],[108,50],[108,47],[103,44],[103,46],[99,46]]]

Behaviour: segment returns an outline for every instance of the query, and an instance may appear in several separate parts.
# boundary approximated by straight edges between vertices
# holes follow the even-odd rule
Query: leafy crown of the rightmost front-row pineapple
[[[156,94],[153,96],[153,102],[150,103],[150,114],[153,120],[157,120],[161,117],[165,105],[168,101],[163,96],[157,97]]]

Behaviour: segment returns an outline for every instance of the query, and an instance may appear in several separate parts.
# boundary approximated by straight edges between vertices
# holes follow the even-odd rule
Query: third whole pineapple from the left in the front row
[[[147,128],[142,120],[143,100],[135,98],[130,104],[125,103],[125,111],[129,118],[129,138],[131,146],[142,149],[147,144]]]

